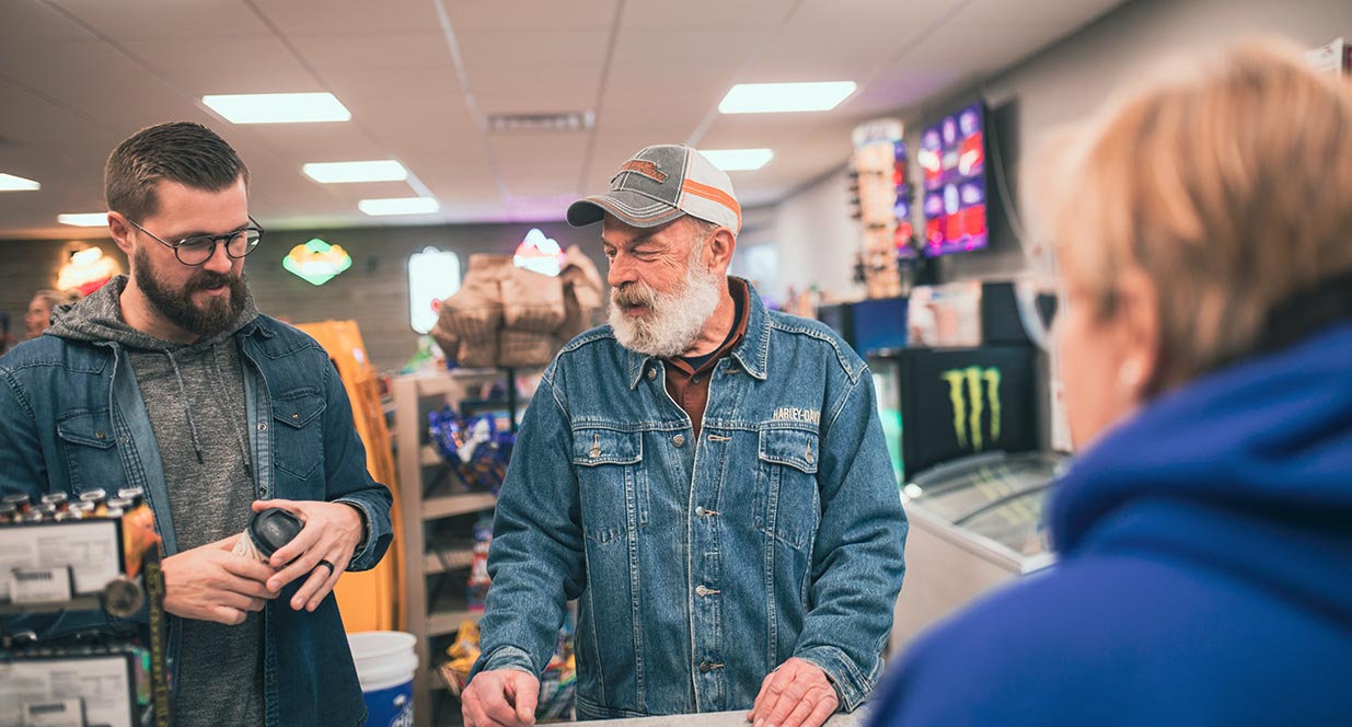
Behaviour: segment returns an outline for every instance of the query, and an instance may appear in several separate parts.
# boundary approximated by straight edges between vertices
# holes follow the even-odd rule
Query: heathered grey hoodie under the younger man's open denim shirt
[[[180,551],[239,534],[254,478],[245,436],[243,369],[234,332],[258,316],[253,296],[226,331],[173,343],[127,326],[126,276],[58,308],[46,335],[123,346],[150,415]],[[174,724],[262,724],[262,615],[239,626],[183,619]]]

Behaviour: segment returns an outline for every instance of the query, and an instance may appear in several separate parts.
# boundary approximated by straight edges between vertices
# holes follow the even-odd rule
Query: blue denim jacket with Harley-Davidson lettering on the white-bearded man
[[[539,674],[579,600],[579,719],[749,708],[790,657],[873,688],[906,515],[864,362],[767,311],[713,372],[699,441],[610,327],[545,370],[502,488],[476,672]]]

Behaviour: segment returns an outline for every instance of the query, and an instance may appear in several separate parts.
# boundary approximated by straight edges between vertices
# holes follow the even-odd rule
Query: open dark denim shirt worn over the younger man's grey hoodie
[[[258,316],[235,334],[243,359],[247,436],[260,499],[349,503],[366,538],[349,570],[373,568],[389,546],[389,491],[366,473],[352,404],[329,354],[308,335]],[[0,495],[142,488],[164,541],[178,553],[160,450],[122,345],[54,335],[0,358]],[[312,613],[292,611],[304,578],[264,611],[264,692],[269,727],[365,722],[361,686],[333,596]],[[141,622],[139,624],[137,622]],[[101,611],[15,619],[39,638],[128,632],[145,622]],[[181,620],[169,619],[176,672]],[[191,655],[188,655],[191,658]]]

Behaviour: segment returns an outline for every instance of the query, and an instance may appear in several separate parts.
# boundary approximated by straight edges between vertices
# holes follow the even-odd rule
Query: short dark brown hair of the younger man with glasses
[[[103,196],[108,211],[141,222],[158,212],[160,180],[220,192],[241,177],[247,185],[249,168],[215,131],[169,122],[142,128],[112,150],[103,170]]]

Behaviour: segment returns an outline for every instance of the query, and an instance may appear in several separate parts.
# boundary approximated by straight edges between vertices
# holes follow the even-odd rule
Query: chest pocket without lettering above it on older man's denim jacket
[[[641,431],[573,431],[583,535],[603,543],[648,524],[648,474],[642,463]]]

